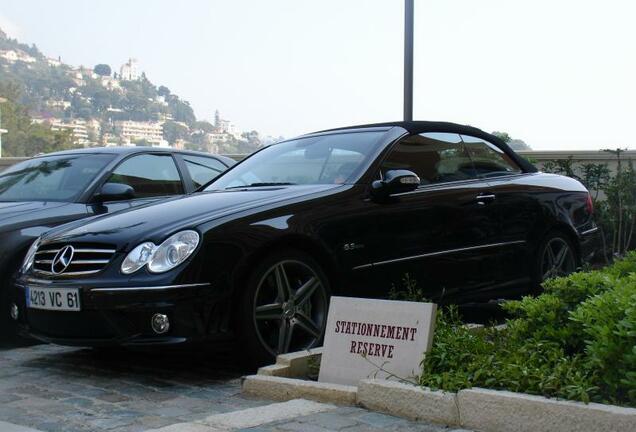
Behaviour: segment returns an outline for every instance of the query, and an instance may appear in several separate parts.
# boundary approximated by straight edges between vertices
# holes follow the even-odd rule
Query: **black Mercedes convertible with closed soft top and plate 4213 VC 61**
[[[595,250],[588,191],[501,140],[396,122],[266,147],[203,192],[44,234],[15,305],[68,345],[235,339],[254,364],[320,344],[332,294],[517,298]]]

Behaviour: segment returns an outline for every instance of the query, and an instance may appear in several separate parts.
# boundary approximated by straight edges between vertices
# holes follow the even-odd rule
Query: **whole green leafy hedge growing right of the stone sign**
[[[636,406],[636,253],[544,288],[507,302],[503,329],[469,330],[455,309],[440,312],[420,384]]]

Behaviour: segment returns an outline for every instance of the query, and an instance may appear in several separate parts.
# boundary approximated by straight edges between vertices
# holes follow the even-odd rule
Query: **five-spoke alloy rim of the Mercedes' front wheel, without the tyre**
[[[316,271],[301,261],[276,263],[255,293],[259,341],[274,356],[316,346],[324,334],[327,305],[327,291]]]

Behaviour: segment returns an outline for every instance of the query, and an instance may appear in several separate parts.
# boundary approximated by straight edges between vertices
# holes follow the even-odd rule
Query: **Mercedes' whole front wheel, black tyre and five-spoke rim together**
[[[245,343],[250,367],[322,343],[331,289],[309,254],[288,249],[269,256],[257,265],[245,288],[239,343]]]

